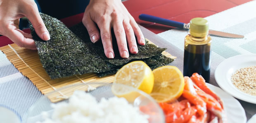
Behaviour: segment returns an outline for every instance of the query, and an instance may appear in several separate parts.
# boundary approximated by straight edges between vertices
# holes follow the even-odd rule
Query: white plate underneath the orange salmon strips
[[[216,86],[206,84],[209,89],[214,91],[222,99],[228,123],[246,123],[247,118],[244,108],[234,97]]]

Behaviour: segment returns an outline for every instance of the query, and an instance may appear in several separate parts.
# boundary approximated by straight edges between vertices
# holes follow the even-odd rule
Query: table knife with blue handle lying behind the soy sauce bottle
[[[149,21],[149,22],[153,22],[153,23],[159,23],[159,24],[168,25],[168,26],[172,26],[172,27],[178,27],[180,29],[189,30],[189,23],[180,23],[177,21],[171,21],[168,19],[159,18],[156,16],[148,15],[148,14],[140,14],[139,18],[140,18],[140,20],[143,20],[143,21]],[[244,36],[242,36],[242,35],[231,34],[231,33],[227,33],[227,32],[220,32],[220,31],[215,31],[215,30],[209,30],[209,34],[213,35],[213,36],[220,36],[220,37],[225,37],[225,38],[244,38]]]

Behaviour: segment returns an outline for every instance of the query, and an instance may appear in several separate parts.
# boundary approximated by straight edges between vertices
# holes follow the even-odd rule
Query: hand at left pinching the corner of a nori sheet
[[[32,23],[41,39],[50,40],[50,34],[34,0],[0,0],[0,34],[20,47],[36,50],[32,35],[19,30],[19,18],[24,16]]]

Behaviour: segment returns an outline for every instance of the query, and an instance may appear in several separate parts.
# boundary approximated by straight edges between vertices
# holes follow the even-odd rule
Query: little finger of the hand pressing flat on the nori
[[[134,18],[130,19],[130,25],[133,28],[133,31],[135,33],[135,35],[137,36],[137,41],[140,45],[145,45],[145,38],[140,30],[140,27],[137,25],[137,23],[135,22]]]

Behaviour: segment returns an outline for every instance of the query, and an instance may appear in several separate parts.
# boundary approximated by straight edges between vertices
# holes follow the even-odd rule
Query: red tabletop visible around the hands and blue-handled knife
[[[166,34],[169,33],[167,30],[173,29],[172,27],[141,21],[138,16],[140,14],[150,14],[173,21],[188,23],[190,19],[194,17],[207,17],[249,1],[251,0],[157,0],[157,2],[155,2],[155,0],[151,0],[151,2],[149,2],[149,0],[128,0],[123,2],[123,4],[137,23],[156,34],[160,33],[159,36],[164,37],[164,32],[166,32]],[[70,27],[81,22],[82,17],[83,14],[78,14],[63,18],[61,21]],[[24,30],[24,32],[30,31]],[[12,41],[7,37],[0,36],[0,46],[11,43]],[[175,52],[172,55],[175,55]],[[245,107],[245,110],[249,109],[250,106],[255,107],[254,104],[242,100],[239,100],[239,102]],[[247,118],[250,118],[251,115],[252,114],[247,113]]]

